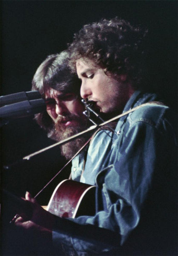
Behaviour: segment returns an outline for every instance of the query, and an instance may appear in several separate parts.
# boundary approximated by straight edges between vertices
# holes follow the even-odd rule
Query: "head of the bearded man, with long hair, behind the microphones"
[[[52,140],[64,140],[87,128],[80,97],[80,80],[68,66],[69,54],[49,55],[37,68],[32,90],[38,90],[46,102],[46,111],[35,115],[37,123]],[[89,135],[61,146],[61,154],[72,158]]]

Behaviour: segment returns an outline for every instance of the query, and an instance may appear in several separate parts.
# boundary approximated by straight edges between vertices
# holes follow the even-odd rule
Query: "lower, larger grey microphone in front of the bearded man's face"
[[[44,99],[26,100],[1,107],[0,118],[6,122],[10,119],[31,116],[44,110],[46,110]]]

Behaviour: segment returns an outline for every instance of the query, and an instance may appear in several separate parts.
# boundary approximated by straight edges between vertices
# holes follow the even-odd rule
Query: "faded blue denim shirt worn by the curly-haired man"
[[[153,100],[155,94],[136,91],[123,112]],[[119,119],[112,139],[102,131],[95,135],[80,181],[95,180],[96,213],[56,217],[58,255],[154,255],[175,249],[170,248],[176,246],[171,231],[177,211],[176,124],[167,106],[150,104]],[[98,150],[102,157],[94,154],[92,161]]]

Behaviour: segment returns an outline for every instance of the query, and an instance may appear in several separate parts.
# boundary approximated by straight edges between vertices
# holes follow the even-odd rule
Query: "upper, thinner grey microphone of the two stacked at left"
[[[41,99],[39,91],[29,91],[13,93],[5,96],[0,96],[0,107],[9,105],[16,102],[22,102],[25,100]]]

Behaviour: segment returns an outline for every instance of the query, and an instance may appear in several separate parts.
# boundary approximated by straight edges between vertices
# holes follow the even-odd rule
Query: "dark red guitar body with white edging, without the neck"
[[[95,186],[74,180],[63,180],[58,184],[47,211],[63,218],[95,215]]]

